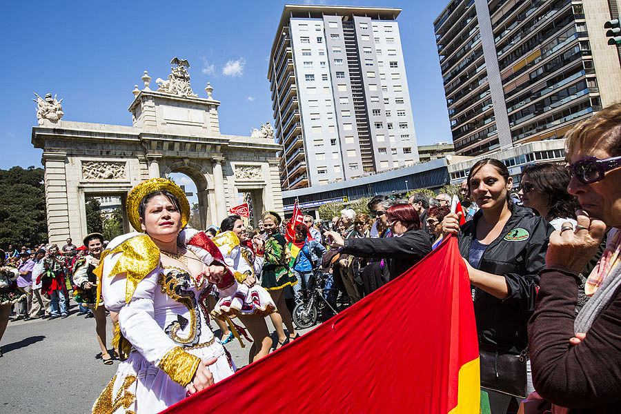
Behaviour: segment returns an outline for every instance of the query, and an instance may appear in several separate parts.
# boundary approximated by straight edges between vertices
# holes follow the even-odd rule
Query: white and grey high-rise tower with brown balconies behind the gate
[[[268,69],[283,189],[418,161],[400,11],[284,6]]]

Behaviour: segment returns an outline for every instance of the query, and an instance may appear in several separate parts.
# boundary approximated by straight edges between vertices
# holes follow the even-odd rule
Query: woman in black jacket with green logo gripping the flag
[[[513,204],[513,179],[501,161],[478,161],[467,184],[480,210],[461,228],[457,215],[447,215],[442,230],[445,237],[457,235],[473,286],[482,391],[489,395],[491,413],[504,414],[513,397],[520,402],[534,391],[526,323],[553,228]]]

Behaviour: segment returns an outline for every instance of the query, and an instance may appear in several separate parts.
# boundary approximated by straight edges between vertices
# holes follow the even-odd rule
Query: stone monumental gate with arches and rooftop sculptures
[[[201,225],[219,223],[239,193],[250,195],[255,216],[264,210],[282,213],[282,197],[274,132],[269,123],[252,136],[221,135],[219,101],[207,83],[206,98],[190,87],[186,60],[172,59],[168,79],[150,90],[133,90],[132,126],[64,121],[61,101],[37,95],[39,126],[32,144],[43,149],[46,207],[51,243],[67,237],[81,241],[86,230],[86,198],[121,197],[124,230],[125,199],[139,182],[183,172],[196,184]],[[240,114],[240,116],[243,116]]]

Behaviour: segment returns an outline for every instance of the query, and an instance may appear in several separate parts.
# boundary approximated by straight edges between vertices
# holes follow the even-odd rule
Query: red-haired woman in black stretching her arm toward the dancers
[[[420,217],[410,204],[395,204],[386,210],[386,217],[393,237],[343,239],[334,231],[328,231],[326,235],[331,237],[332,246],[339,246],[342,253],[388,259],[388,272],[392,280],[430,253],[431,242],[420,229]]]

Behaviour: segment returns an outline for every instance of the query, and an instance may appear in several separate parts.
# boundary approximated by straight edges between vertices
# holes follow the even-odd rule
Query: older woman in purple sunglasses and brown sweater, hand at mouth
[[[529,322],[533,382],[563,413],[621,412],[621,103],[566,134],[567,190],[578,224],[550,237],[535,314]],[[580,279],[609,228],[607,248],[586,282],[591,296],[575,315]],[[556,411],[555,411],[556,412]]]

